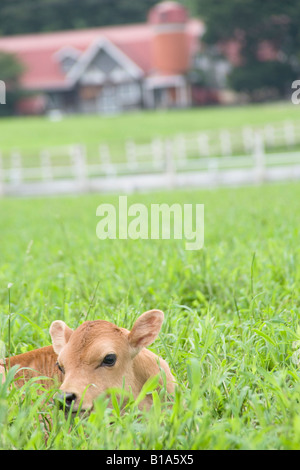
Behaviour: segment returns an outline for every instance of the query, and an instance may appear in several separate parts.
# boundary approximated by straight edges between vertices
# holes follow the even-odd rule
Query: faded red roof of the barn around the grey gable
[[[198,48],[199,37],[203,34],[203,24],[198,20],[188,20],[186,24],[189,53]],[[86,51],[97,40],[106,39],[113,43],[145,75],[152,71],[151,40],[152,25],[135,24],[72,30],[53,33],[28,34],[0,38],[0,50],[15,54],[24,64],[25,72],[21,85],[25,89],[57,89],[69,86],[57,53],[64,47]]]

